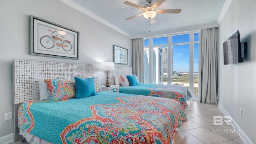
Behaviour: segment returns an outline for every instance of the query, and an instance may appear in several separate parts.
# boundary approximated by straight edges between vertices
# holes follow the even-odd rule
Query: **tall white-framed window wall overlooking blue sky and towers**
[[[198,31],[144,38],[145,83],[182,85],[197,98]]]

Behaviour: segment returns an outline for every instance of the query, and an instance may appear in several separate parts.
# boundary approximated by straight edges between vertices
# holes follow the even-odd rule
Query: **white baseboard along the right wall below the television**
[[[230,116],[230,114],[228,114],[228,112],[225,110],[225,108],[218,102],[218,106],[220,108],[220,110],[223,112],[223,114],[225,116]],[[238,126],[238,124],[232,119],[232,121],[230,122],[230,124],[236,129],[239,130],[241,129],[240,126]],[[242,129],[241,129],[242,130]],[[248,138],[248,136],[246,136],[246,134],[243,132],[238,133],[238,135],[240,136],[240,138],[243,140],[243,142],[245,144],[253,144],[253,142]]]

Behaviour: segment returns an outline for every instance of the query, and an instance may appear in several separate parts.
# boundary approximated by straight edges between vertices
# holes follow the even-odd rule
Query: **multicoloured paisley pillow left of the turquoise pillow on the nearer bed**
[[[44,79],[47,86],[48,102],[57,102],[75,97],[74,80]]]

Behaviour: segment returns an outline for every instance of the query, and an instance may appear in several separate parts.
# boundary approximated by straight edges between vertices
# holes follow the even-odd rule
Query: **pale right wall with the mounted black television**
[[[248,49],[243,63],[224,65],[223,43],[236,30]],[[218,102],[256,143],[256,1],[233,0],[219,26]],[[242,108],[242,116],[239,115]]]

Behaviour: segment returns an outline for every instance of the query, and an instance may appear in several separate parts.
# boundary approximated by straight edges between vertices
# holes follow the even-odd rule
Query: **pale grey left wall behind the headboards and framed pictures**
[[[30,55],[30,15],[80,32],[80,59]],[[94,76],[106,82],[100,62],[113,61],[113,44],[128,49],[132,66],[132,40],[58,0],[0,0],[0,137],[13,133],[13,120],[4,121],[4,113],[13,112],[12,60],[37,60],[94,64]],[[118,66],[118,65],[116,65]],[[124,65],[119,65],[124,66]]]

